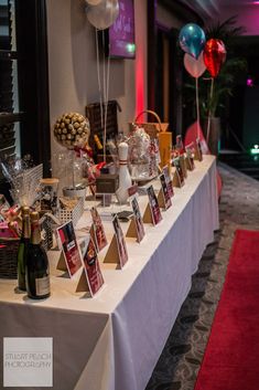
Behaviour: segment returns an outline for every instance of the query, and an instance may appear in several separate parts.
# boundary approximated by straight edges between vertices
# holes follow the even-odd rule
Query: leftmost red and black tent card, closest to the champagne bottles
[[[67,271],[72,277],[82,267],[80,251],[73,222],[64,223],[56,229],[56,232],[62,245],[62,256],[60,257],[57,270]]]

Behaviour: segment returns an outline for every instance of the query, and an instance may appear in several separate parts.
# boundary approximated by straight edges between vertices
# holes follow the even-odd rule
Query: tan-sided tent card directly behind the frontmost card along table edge
[[[129,257],[125,241],[125,234],[117,215],[114,217],[112,225],[115,234],[111,239],[111,243],[105,256],[104,263],[115,263],[120,268],[122,268],[128,262]]]

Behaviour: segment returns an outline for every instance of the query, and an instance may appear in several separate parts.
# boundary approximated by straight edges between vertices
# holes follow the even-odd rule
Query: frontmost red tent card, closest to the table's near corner
[[[99,260],[96,246],[91,236],[83,255],[84,270],[82,272],[76,292],[89,292],[91,296],[96,295],[104,286],[104,277],[99,266]]]

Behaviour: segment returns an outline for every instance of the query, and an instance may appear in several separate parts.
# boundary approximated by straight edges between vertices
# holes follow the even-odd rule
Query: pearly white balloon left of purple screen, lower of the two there
[[[105,30],[112,25],[118,14],[118,0],[101,0],[98,6],[89,6],[86,9],[88,21],[98,30]]]

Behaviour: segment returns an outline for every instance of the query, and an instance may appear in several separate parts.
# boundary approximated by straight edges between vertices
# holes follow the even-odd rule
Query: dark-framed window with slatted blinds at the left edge
[[[0,0],[0,157],[14,152],[48,173],[45,0]]]

